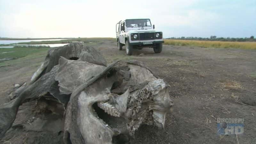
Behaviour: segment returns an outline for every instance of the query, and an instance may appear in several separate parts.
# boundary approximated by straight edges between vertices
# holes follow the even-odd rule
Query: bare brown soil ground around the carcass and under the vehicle
[[[132,56],[119,51],[114,42],[93,44],[108,62],[140,60],[169,83],[173,112],[166,116],[165,129],[143,125],[131,144],[253,144],[256,143],[256,51],[164,45],[134,50]],[[46,53],[45,53],[46,54]],[[44,57],[31,57],[20,65],[0,68],[0,104],[9,101],[13,84],[23,83]],[[35,101],[24,103],[14,124],[0,143],[62,143],[62,132],[24,131],[17,124],[34,117]],[[217,134],[217,118],[244,118],[244,134]]]

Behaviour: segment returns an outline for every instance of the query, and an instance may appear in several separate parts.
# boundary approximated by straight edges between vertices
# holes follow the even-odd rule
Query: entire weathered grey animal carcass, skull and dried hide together
[[[141,124],[164,128],[173,105],[168,84],[145,64],[116,61],[105,67],[97,50],[80,43],[50,50],[47,57],[17,98],[0,107],[0,138],[25,99],[40,102],[44,97],[51,100],[49,96],[62,107],[55,113],[65,113],[67,144],[111,144],[113,136],[133,136]],[[68,60],[74,57],[78,60]]]

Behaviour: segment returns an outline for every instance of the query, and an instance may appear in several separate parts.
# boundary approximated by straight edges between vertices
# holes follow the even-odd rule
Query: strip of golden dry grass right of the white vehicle
[[[240,48],[256,50],[256,42],[221,42],[221,41],[194,41],[165,39],[164,44],[180,46],[198,46],[214,48]]]

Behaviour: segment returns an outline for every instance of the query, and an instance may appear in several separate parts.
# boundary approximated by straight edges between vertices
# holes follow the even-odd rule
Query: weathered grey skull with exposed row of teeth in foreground
[[[106,113],[97,113],[97,106]],[[163,79],[137,61],[119,61],[71,94],[64,140],[110,144],[114,135],[133,135],[141,124],[163,128],[171,106]]]

